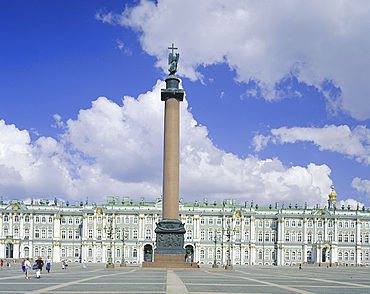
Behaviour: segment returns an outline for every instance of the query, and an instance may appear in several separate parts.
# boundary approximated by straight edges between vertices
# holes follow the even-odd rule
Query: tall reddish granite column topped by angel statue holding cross
[[[164,120],[164,160],[163,160],[163,219],[155,229],[157,247],[154,251],[153,266],[184,265],[185,228],[179,220],[179,132],[180,101],[184,99],[184,90],[179,89],[180,79],[176,77],[180,54],[177,48],[169,47],[169,76],[166,89],[162,89],[161,100],[165,102]]]

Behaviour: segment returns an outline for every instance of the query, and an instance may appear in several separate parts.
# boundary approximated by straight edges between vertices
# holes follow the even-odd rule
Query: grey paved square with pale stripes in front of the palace
[[[54,264],[26,280],[20,265],[0,270],[0,293],[370,293],[370,268],[234,267],[200,270],[106,269],[104,264]]]

